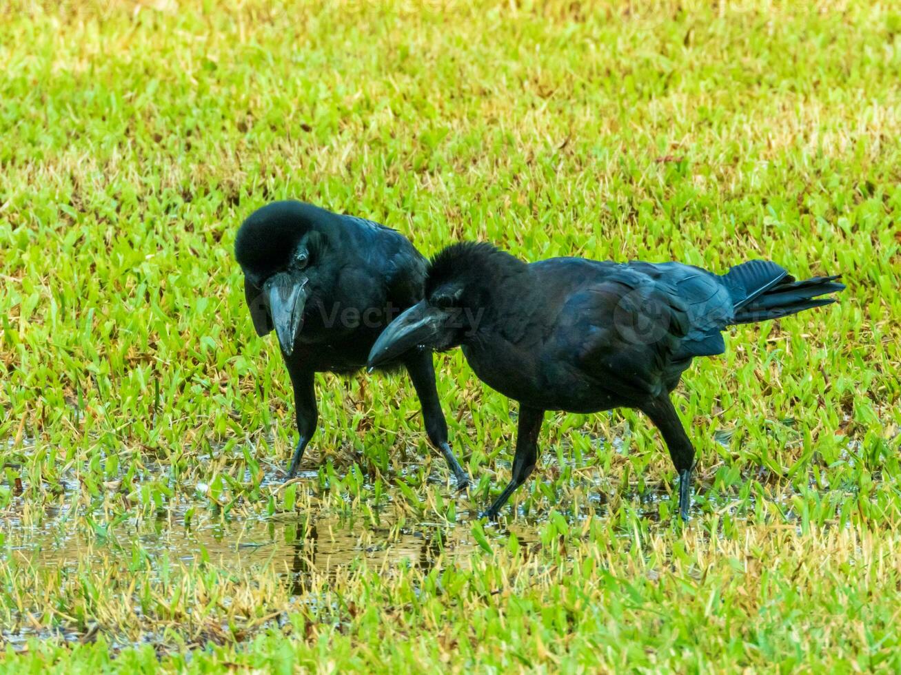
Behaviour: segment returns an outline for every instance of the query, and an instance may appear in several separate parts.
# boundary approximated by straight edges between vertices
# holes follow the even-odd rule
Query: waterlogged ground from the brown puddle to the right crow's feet
[[[505,463],[496,464],[500,474],[507,475],[509,469]],[[142,572],[145,581],[159,581],[162,570],[173,564],[188,570],[208,564],[236,576],[266,571],[277,575],[287,592],[302,603],[312,580],[332,579],[363,562],[369,570],[385,572],[410,567],[422,572],[436,566],[468,567],[470,554],[481,547],[473,524],[477,520],[476,507],[483,500],[455,494],[451,486],[442,482],[446,478],[440,471],[442,468],[438,467],[428,482],[441,483],[433,491],[441,494],[445,503],[454,502],[456,513],[452,521],[436,517],[428,510],[411,512],[404,497],[393,489],[387,491],[378,507],[366,503],[361,508],[348,508],[335,493],[314,489],[319,476],[313,471],[302,472],[294,483],[296,508],[268,517],[263,515],[265,499],[242,504],[241,508],[223,514],[223,509],[204,499],[208,486],[203,483],[192,484],[175,494],[165,509],[134,505],[123,509],[122,486],[114,482],[106,485],[99,501],[88,503],[90,500],[84,499],[85,491],[77,475],[68,474],[60,482],[62,492],[45,502],[50,506],[33,506],[27,495],[22,495],[0,512],[0,563],[32,572],[59,571],[70,576],[91,567],[114,569],[123,577]],[[605,517],[608,513],[605,490],[625,487],[616,499],[631,501],[641,518],[649,521],[660,518],[661,501],[674,498],[663,481],[649,480],[639,487],[633,480],[621,486],[623,478],[628,481],[626,476],[611,483],[610,476],[600,476],[596,467],[573,469],[571,466],[569,477],[560,480],[564,468],[550,456],[542,475],[536,475],[534,482],[544,483],[542,492],[556,483],[562,491],[557,495],[559,508],[570,524],[585,518]],[[714,469],[711,468],[706,478],[697,476],[697,488],[702,483],[710,484]],[[140,487],[141,482],[158,480],[167,473],[164,465],[145,464],[141,471],[143,478],[136,478],[132,488]],[[270,466],[259,488],[280,496],[283,480],[284,473]],[[23,487],[27,491],[27,484]],[[423,495],[422,490],[416,492]],[[558,501],[552,499],[551,489],[546,492],[547,499],[542,498],[540,512],[517,511],[514,518],[507,518],[500,525],[486,525],[487,538],[500,546],[514,534],[520,545],[537,545],[549,516],[547,507]],[[710,498],[710,493],[705,494],[703,489],[696,493],[696,503]],[[732,506],[724,502],[716,508],[732,509]],[[30,623],[27,614],[15,608],[7,617],[13,615],[17,617],[14,626],[0,626],[0,644],[22,645],[31,637],[85,639],[84,633],[49,635],[46,623]]]

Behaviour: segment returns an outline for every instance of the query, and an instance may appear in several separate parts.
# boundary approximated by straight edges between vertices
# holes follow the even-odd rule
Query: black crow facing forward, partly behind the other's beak
[[[260,337],[275,329],[294,388],[300,437],[290,478],[316,430],[314,374],[362,367],[388,322],[423,299],[428,262],[394,229],[303,202],[273,202],[251,213],[234,253],[253,327]],[[409,350],[381,365],[405,366],[429,438],[465,488],[469,476],[448,445],[432,353]]]

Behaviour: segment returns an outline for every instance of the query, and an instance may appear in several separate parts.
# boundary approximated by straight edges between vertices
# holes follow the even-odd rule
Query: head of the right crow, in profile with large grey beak
[[[478,330],[492,308],[496,289],[525,264],[482,242],[460,242],[432,258],[425,298],[388,324],[369,351],[369,369],[414,347],[443,351],[457,347]]]

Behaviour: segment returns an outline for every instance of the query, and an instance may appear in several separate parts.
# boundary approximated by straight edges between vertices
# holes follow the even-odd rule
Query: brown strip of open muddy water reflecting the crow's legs
[[[131,563],[132,541],[137,539],[152,556],[150,560],[165,553],[170,560],[208,561],[234,572],[267,565],[284,571],[297,584],[296,592],[302,592],[305,575],[329,572],[361,558],[369,567],[410,564],[427,571],[441,554],[465,556],[477,546],[469,527],[429,523],[396,527],[397,518],[389,514],[380,518],[378,526],[324,514],[207,520],[191,527],[178,520],[123,523],[105,542],[84,530],[65,533],[44,527],[41,532],[7,535],[7,543],[20,561],[36,567],[74,568],[92,558],[108,564],[122,556]]]

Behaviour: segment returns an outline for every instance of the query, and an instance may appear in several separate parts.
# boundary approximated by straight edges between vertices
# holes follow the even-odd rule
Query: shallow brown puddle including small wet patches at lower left
[[[30,518],[5,518],[0,520],[0,563],[7,571],[27,570],[39,577],[59,573],[68,585],[77,586],[82,578],[94,583],[136,578],[145,585],[160,582],[159,589],[173,588],[162,582],[172,572],[193,575],[208,565],[220,571],[223,581],[259,579],[263,588],[271,589],[272,581],[263,580],[274,580],[284,589],[282,593],[295,597],[283,607],[299,608],[320,601],[323,581],[346,580],[360,563],[379,574],[410,568],[429,572],[436,565],[459,569],[469,567],[469,554],[478,549],[465,514],[457,524],[417,522],[403,506],[393,503],[365,518],[335,513],[334,500],[330,507],[313,502],[312,508],[273,518],[223,518],[208,509],[196,509],[186,524],[190,508],[181,506],[156,518],[132,517],[103,526],[97,523],[99,514],[92,519],[70,515],[66,509],[48,509],[42,518],[33,518],[33,513]],[[534,539],[533,532],[528,525],[516,529],[523,543]],[[508,533],[495,529],[487,536],[505,539]],[[227,595],[224,598],[229,601]],[[23,648],[32,637],[70,642],[93,639],[90,626],[71,630],[72,622],[64,620],[59,629],[50,627],[58,625],[52,620],[53,610],[50,615],[41,612],[36,596],[23,600],[22,608],[8,608],[10,623],[0,625],[0,644]],[[61,617],[70,611],[59,609]],[[279,614],[274,620],[284,617]],[[141,622],[140,611],[135,620]],[[266,621],[253,630],[271,625]],[[222,626],[223,635],[230,630]],[[161,640],[152,632],[140,635],[138,643]],[[125,646],[136,638],[116,639],[124,639]]]

